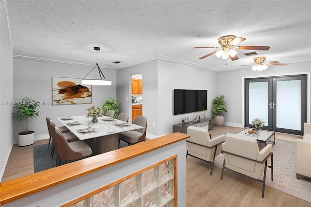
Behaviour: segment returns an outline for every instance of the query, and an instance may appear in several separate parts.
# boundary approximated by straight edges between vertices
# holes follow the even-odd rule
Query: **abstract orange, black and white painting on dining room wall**
[[[52,105],[92,104],[92,85],[80,78],[52,77]]]

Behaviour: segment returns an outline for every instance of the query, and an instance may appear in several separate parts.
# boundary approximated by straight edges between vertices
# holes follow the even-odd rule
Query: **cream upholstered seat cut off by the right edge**
[[[311,123],[304,123],[303,139],[296,140],[296,178],[311,178]]]

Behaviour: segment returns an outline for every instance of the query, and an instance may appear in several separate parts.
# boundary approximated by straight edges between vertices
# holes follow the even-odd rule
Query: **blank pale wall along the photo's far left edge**
[[[13,145],[13,52],[5,3],[0,0],[0,180]]]

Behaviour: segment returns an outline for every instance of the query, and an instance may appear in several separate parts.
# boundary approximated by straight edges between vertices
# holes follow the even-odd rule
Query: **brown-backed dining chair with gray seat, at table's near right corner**
[[[137,116],[133,121],[133,124],[142,126],[141,129],[136,129],[127,132],[121,132],[119,134],[119,145],[120,140],[125,141],[128,145],[136,144],[146,140],[146,129],[147,129],[147,118],[144,116]]]

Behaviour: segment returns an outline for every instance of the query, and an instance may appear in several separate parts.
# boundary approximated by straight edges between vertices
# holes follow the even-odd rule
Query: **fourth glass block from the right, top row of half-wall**
[[[119,206],[118,186],[113,186],[93,196],[93,207]]]

